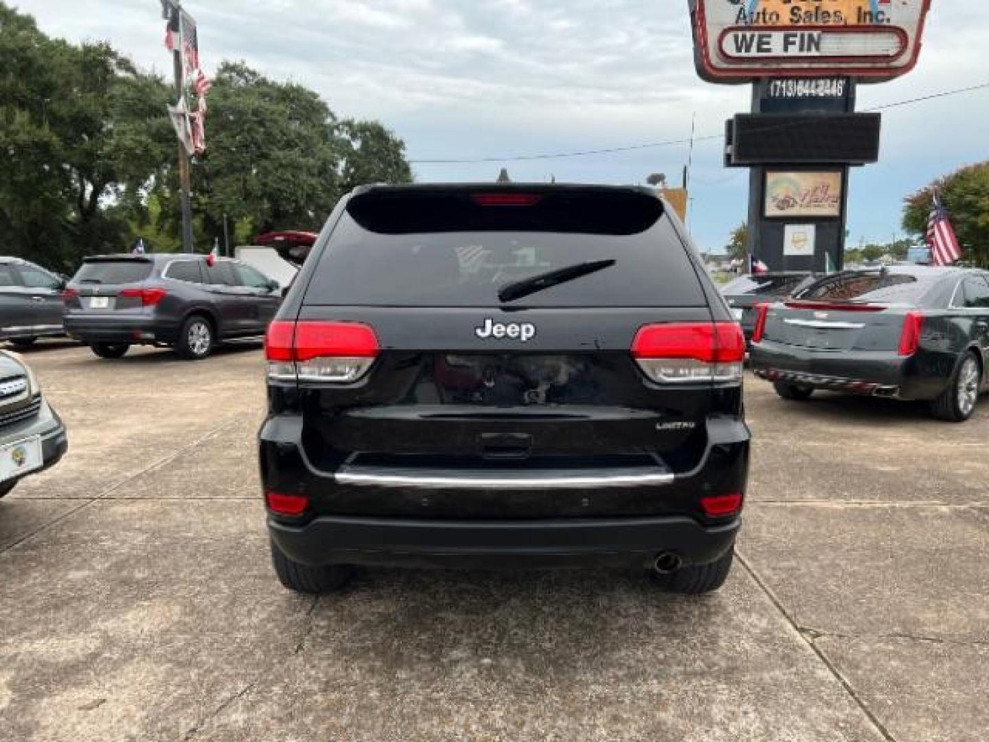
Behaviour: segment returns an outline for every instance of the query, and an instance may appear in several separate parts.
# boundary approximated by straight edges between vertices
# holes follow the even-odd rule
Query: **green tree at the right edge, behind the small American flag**
[[[917,239],[927,232],[936,188],[964,249],[962,259],[989,265],[989,161],[963,167],[907,197],[903,227]]]

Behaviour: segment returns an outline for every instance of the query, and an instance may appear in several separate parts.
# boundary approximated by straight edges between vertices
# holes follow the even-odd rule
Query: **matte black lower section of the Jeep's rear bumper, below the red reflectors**
[[[320,516],[299,526],[268,519],[272,540],[310,565],[412,567],[648,567],[659,552],[685,564],[716,560],[740,521],[702,526],[689,517],[552,520],[413,520]]]

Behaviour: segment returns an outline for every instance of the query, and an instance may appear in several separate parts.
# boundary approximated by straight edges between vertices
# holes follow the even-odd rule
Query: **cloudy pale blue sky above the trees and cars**
[[[11,0],[7,0],[11,2]],[[158,0],[13,0],[41,28],[107,40],[164,73]],[[989,82],[989,3],[934,0],[924,51],[907,77],[859,88],[859,109]],[[186,0],[204,66],[243,59],[318,90],[341,116],[379,119],[405,139],[421,181],[642,182],[678,174],[687,146],[616,154],[511,157],[687,139],[748,110],[748,86],[693,71],[686,0]],[[888,240],[903,197],[959,165],[989,158],[989,89],[883,114],[878,164],[854,170],[850,242]],[[983,134],[979,136],[979,132]],[[693,156],[690,228],[719,249],[746,214],[745,170],[721,142]],[[429,163],[479,159],[478,163]]]

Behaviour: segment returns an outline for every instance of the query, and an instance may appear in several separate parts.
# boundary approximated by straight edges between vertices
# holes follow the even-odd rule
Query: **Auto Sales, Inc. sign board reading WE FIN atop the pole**
[[[689,0],[697,70],[711,82],[913,69],[931,0]]]

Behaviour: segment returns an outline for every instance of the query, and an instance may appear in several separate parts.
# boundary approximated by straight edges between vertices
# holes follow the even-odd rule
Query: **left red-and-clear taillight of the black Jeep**
[[[268,378],[352,384],[367,373],[381,346],[369,325],[276,322],[268,327]]]

